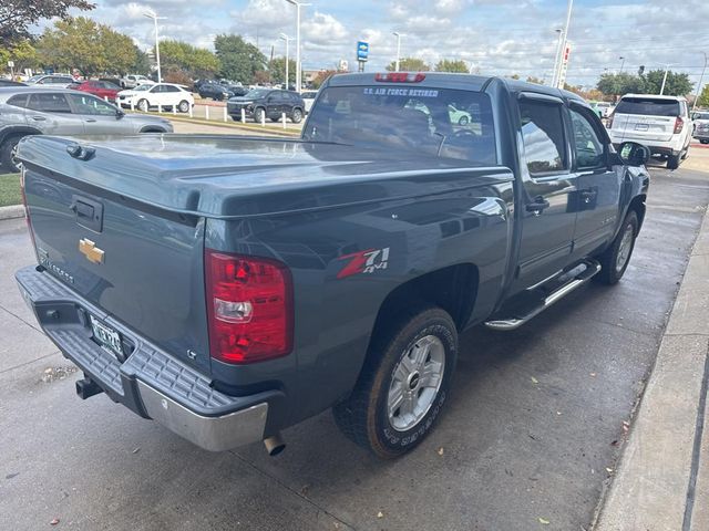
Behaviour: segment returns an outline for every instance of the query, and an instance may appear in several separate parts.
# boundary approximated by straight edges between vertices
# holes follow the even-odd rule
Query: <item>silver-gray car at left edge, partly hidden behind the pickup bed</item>
[[[125,114],[85,92],[13,86],[0,88],[0,163],[18,170],[14,153],[27,135],[132,135],[172,133],[160,116]]]

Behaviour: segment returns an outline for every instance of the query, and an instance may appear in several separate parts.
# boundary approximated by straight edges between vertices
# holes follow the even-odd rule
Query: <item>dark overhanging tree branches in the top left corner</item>
[[[70,9],[95,8],[86,0],[4,0],[0,3],[0,42],[10,48],[30,37],[29,28],[43,19],[69,18]]]

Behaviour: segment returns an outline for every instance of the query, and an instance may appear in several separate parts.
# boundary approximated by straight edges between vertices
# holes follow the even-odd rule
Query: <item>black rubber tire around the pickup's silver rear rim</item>
[[[427,391],[431,393],[430,404],[413,413],[414,416],[421,416],[411,420],[415,424],[409,429],[403,429],[403,426],[394,427],[389,415],[388,400],[390,394],[395,393],[392,382],[395,374],[399,374],[397,369],[401,368],[400,365],[403,366],[400,362],[404,356],[409,358],[422,342],[425,343],[427,339],[429,342],[434,341],[431,336],[440,342],[440,345],[435,345],[436,355],[444,356],[442,376],[439,375],[440,384],[438,388],[422,384],[423,366],[433,363],[431,350],[431,354],[423,354],[423,363],[417,365],[415,372],[421,371],[420,377],[417,377],[415,382],[410,379],[408,386],[399,388],[402,396],[415,395],[417,404],[423,394],[421,388],[431,389]],[[382,459],[392,459],[410,451],[431,431],[443,409],[450,393],[456,357],[458,332],[448,312],[440,308],[428,308],[410,314],[403,312],[392,325],[372,339],[354,389],[345,402],[332,408],[338,427],[349,439]],[[409,361],[411,362],[411,358]],[[410,378],[413,376],[415,374],[410,374]],[[413,387],[414,385],[417,387]],[[394,415],[399,410],[394,410]],[[403,418],[403,413],[400,418]]]

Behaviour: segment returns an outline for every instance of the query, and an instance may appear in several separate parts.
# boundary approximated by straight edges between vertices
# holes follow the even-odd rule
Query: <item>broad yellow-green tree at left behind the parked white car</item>
[[[45,29],[38,42],[39,62],[84,75],[124,73],[137,61],[133,40],[85,17],[68,18]]]

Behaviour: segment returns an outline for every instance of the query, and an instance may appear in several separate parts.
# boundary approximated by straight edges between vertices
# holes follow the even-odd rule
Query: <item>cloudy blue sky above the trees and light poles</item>
[[[238,33],[268,56],[285,55],[284,32],[296,34],[296,8],[286,0],[94,0],[89,13],[131,35],[146,50],[161,17],[162,38],[213,49],[219,33]],[[306,70],[333,69],[349,61],[357,69],[358,40],[369,42],[368,71],[395,59],[394,31],[403,33],[401,55],[434,64],[462,59],[474,71],[551,80],[557,32],[568,0],[306,0],[301,53]],[[604,72],[664,69],[686,72],[699,82],[709,53],[709,0],[575,0],[568,40],[567,82],[590,87]],[[290,45],[294,55],[295,41]],[[624,58],[624,59],[621,59]]]

